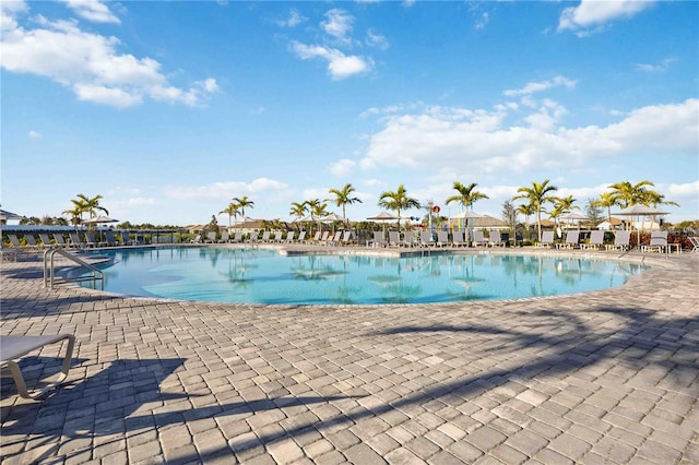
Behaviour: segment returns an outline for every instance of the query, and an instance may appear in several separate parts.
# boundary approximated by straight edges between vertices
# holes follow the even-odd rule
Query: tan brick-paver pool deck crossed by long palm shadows
[[[43,401],[3,380],[2,464],[697,464],[699,254],[626,258],[662,266],[572,296],[298,307],[49,290],[21,255],[0,334],[78,343]],[[57,357],[23,359],[28,384]]]

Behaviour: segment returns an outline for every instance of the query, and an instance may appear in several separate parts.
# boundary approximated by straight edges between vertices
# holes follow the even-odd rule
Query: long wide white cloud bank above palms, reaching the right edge
[[[371,136],[359,166],[419,169],[434,168],[439,160],[451,172],[473,176],[528,168],[582,169],[595,160],[647,150],[699,152],[699,99],[639,108],[607,127],[558,127],[555,116],[565,109],[553,103],[544,108],[547,114],[540,109],[528,117],[529,127],[507,126],[514,110],[505,106],[490,111],[428,108],[418,115],[393,116]]]

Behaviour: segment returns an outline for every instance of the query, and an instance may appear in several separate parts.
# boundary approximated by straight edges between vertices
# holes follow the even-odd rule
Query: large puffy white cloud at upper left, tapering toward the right
[[[81,31],[75,21],[37,16],[38,27],[31,29],[7,20],[8,12],[13,15],[19,11],[2,7],[2,24],[7,26],[0,41],[2,67],[49,78],[71,88],[81,100],[125,108],[150,97],[196,106],[218,88],[213,79],[197,82],[189,90],[176,87],[157,61],[119,53],[118,38]]]

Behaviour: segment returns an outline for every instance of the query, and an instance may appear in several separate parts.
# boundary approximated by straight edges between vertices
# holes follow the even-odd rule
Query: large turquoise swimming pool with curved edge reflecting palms
[[[283,255],[272,249],[233,247],[99,253],[114,258],[103,270],[106,291],[245,303],[428,303],[556,296],[620,286],[647,267],[543,254]]]

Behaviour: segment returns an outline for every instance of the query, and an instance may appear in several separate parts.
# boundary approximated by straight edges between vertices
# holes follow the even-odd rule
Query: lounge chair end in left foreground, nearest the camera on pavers
[[[66,356],[63,357],[63,365],[61,367],[61,373],[58,380],[49,382],[29,392],[26,389],[24,377],[20,370],[19,360],[25,355],[38,350],[44,346],[68,341],[66,348]],[[17,392],[24,398],[39,398],[68,378],[68,370],[70,370],[70,362],[73,357],[73,347],[75,346],[75,337],[72,334],[61,334],[54,336],[2,336],[0,337],[0,368],[2,369],[2,378],[14,379],[14,384],[17,386]],[[9,371],[9,372],[8,372]]]

